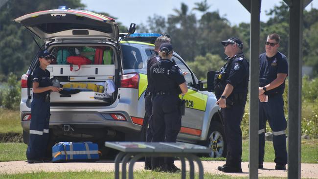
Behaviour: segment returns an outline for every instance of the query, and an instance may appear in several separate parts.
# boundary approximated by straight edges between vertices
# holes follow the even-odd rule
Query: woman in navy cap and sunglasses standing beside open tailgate
[[[54,58],[54,55],[50,54],[47,50],[40,51],[40,66],[36,67],[33,71],[30,135],[26,150],[28,163],[39,163],[49,160],[45,158],[50,118],[49,95],[51,91],[58,92],[61,90],[52,86],[50,72],[46,69]]]

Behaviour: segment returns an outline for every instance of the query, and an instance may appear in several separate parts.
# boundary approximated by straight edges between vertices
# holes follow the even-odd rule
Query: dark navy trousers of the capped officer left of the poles
[[[227,166],[241,168],[242,131],[241,121],[246,101],[234,104],[230,108],[222,108],[224,131],[227,138]]]

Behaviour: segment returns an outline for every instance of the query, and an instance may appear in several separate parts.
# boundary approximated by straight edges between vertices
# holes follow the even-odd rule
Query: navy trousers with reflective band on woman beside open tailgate
[[[43,159],[49,140],[48,127],[50,103],[43,98],[33,98],[31,102],[31,123],[26,157],[29,160]]]

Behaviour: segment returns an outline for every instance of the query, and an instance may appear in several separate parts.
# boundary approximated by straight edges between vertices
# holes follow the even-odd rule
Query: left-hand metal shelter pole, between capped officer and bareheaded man
[[[261,0],[250,0],[250,179],[258,178],[258,86]]]

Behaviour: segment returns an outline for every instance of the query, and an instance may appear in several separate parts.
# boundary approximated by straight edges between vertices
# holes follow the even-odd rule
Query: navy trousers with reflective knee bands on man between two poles
[[[275,150],[275,163],[287,164],[286,128],[284,115],[284,100],[281,94],[268,97],[268,102],[259,102],[259,154],[258,163],[264,162],[266,121],[268,120],[273,131],[273,145]]]

